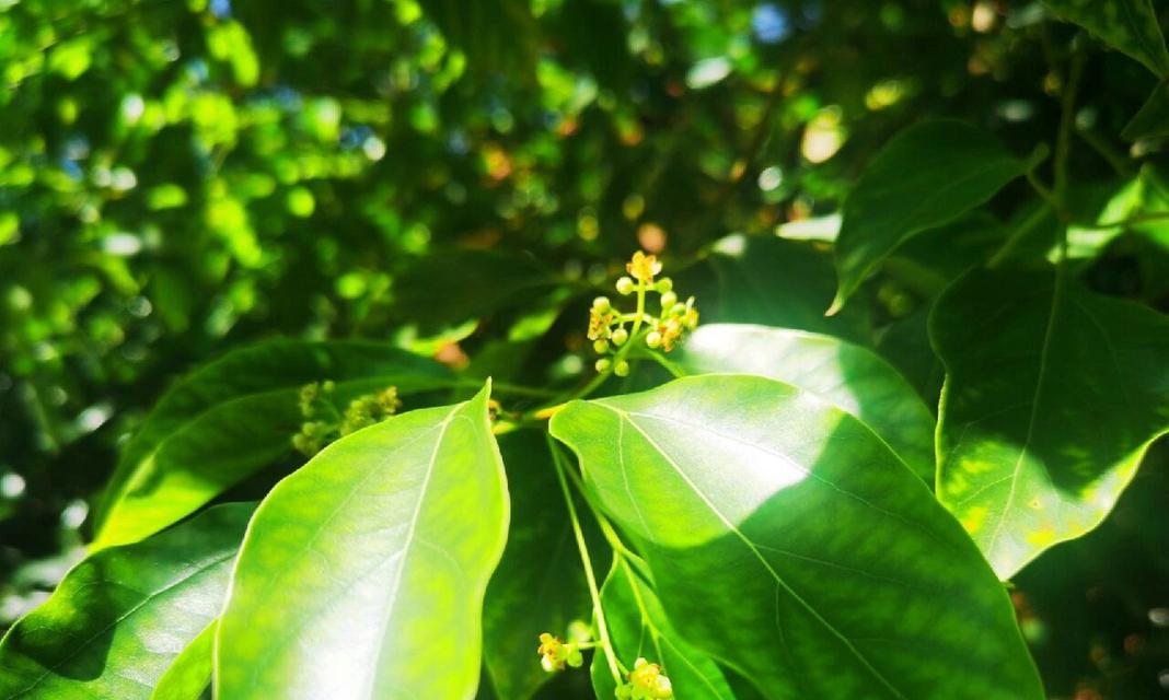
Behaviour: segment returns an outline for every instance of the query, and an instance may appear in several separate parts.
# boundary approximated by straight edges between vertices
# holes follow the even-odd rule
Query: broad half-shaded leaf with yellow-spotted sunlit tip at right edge
[[[939,298],[939,498],[1002,578],[1104,520],[1169,430],[1169,318],[1049,269]]]

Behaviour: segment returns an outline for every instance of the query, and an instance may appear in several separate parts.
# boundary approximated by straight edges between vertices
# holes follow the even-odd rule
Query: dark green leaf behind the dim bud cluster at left
[[[224,355],[172,388],[126,445],[94,548],[133,542],[291,451],[300,387],[334,380],[338,403],[387,386],[449,386],[441,365],[374,342],[272,341]],[[407,406],[409,400],[407,400]]]

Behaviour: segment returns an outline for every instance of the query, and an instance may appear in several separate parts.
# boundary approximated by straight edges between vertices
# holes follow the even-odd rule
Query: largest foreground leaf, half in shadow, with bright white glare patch
[[[1043,696],[977,548],[849,414],[706,375],[574,401],[552,431],[678,632],[767,698]]]

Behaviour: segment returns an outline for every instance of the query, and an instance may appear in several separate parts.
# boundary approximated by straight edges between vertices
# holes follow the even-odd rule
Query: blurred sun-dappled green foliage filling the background
[[[924,116],[1051,143],[1075,62],[1078,217],[1163,209],[1163,140],[1120,136],[1156,79],[1033,1],[0,0],[0,628],[160,393],[260,338],[570,383],[582,299],[641,247],[705,320],[870,345],[935,401],[931,299],[1053,222],[1017,182],[825,319],[841,197]],[[1093,286],[1162,311],[1167,251],[1163,222],[1073,231]],[[1053,698],[1169,696],[1165,452],[1016,582]]]

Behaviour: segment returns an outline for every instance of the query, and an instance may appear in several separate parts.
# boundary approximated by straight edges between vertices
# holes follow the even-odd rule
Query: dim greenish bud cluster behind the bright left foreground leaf
[[[336,391],[337,384],[330,380],[300,388],[299,406],[304,423],[300,424],[299,432],[292,436],[292,446],[298,452],[312,457],[334,439],[380,423],[402,407],[397,387],[387,387],[358,396],[341,413],[333,403]]]

